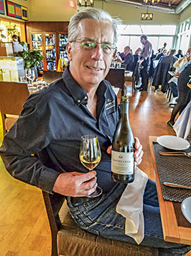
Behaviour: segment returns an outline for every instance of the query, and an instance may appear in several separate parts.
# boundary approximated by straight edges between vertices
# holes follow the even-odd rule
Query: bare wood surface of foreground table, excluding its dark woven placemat
[[[162,189],[159,182],[159,173],[153,148],[153,142],[156,142],[156,139],[157,136],[149,136],[164,240],[172,243],[191,245],[191,224],[184,218],[184,215],[181,212],[181,203],[166,201],[162,197]]]

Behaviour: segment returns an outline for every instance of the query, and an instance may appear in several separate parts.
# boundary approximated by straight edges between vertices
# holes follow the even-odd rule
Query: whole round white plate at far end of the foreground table
[[[183,151],[190,147],[190,143],[186,139],[171,135],[159,136],[157,142],[159,145],[175,151]]]

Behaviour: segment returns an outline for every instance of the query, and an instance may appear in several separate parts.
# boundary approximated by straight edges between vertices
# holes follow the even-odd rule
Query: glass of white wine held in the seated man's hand
[[[97,136],[92,134],[82,136],[79,159],[82,162],[82,165],[90,171],[98,165],[101,160],[101,149]],[[96,196],[100,196],[101,193],[101,187],[96,187],[95,192],[87,197],[94,198]]]

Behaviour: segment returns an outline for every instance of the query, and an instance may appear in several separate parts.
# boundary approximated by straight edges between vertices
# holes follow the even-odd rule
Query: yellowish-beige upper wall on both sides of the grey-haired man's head
[[[74,0],[76,1],[76,0]],[[46,2],[46,10],[45,10]],[[54,10],[53,10],[53,4]],[[178,24],[179,15],[167,13],[154,13],[153,21],[141,21],[141,13],[145,9],[129,7],[123,4],[112,4],[105,1],[95,0],[95,7],[104,8],[113,16],[118,16],[124,24]],[[81,10],[79,8],[79,10]],[[70,6],[70,0],[30,0],[29,1],[29,21],[69,21],[76,13],[76,9]]]

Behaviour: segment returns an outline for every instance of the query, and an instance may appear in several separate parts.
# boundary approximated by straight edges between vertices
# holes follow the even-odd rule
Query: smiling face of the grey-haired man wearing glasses
[[[78,31],[76,39],[88,38],[98,43],[113,44],[114,32],[107,21],[85,18],[79,22]],[[98,86],[109,72],[113,51],[105,53],[100,44],[95,49],[88,50],[79,43],[80,41],[76,41],[67,44],[71,75],[82,88]]]

